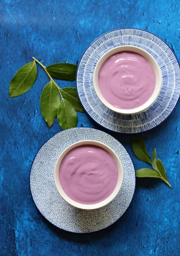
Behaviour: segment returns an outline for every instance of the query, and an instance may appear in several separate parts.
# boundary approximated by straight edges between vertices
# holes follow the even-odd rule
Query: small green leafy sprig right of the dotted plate
[[[168,186],[171,186],[168,182],[168,178],[166,176],[166,171],[163,166],[163,163],[159,159],[156,160],[156,149],[155,148],[153,149],[153,152],[152,152],[153,161],[151,160],[150,155],[146,151],[146,144],[143,141],[143,139],[134,136],[133,140],[132,140],[132,149],[134,151],[135,156],[139,160],[150,164],[152,166],[152,168],[154,169],[154,170],[150,169],[150,168],[139,169],[136,171],[136,177],[160,178],[161,180],[166,182],[166,184],[168,184]]]

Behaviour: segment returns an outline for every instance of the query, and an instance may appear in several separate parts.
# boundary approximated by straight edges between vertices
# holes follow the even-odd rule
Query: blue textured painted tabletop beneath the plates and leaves
[[[129,209],[111,227],[85,235],[60,230],[31,198],[31,163],[61,128],[56,119],[49,129],[40,113],[40,94],[49,81],[44,71],[38,67],[31,90],[9,99],[14,73],[32,56],[45,66],[77,63],[91,41],[123,27],[158,35],[180,59],[178,1],[0,1],[0,255],[180,255],[180,104],[166,122],[142,134],[149,152],[156,147],[172,187],[137,179]],[[75,86],[75,81],[57,83]],[[86,113],[78,113],[78,126],[101,129]],[[146,166],[133,155],[132,136],[112,135],[129,151],[136,169]]]

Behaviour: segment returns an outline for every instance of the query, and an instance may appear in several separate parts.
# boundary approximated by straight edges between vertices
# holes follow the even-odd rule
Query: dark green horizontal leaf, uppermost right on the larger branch
[[[74,81],[76,79],[77,65],[70,63],[56,63],[46,67],[51,76],[60,80]]]

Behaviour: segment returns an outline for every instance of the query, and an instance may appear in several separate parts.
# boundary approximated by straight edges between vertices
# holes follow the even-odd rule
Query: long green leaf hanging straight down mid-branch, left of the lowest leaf
[[[43,114],[44,119],[49,127],[51,127],[54,119],[57,117],[57,110],[59,105],[59,90],[57,89],[54,82],[50,81],[48,84],[46,84],[40,96],[41,113]]]

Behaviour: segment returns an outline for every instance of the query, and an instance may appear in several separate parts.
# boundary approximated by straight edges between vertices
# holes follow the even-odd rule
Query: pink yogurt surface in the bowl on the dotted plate
[[[78,146],[63,157],[59,180],[72,200],[80,204],[97,204],[114,191],[118,180],[117,164],[103,148]]]

